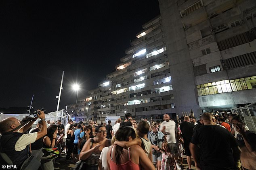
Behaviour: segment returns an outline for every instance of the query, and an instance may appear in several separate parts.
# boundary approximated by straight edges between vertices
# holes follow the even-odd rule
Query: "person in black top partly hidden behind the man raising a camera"
[[[29,133],[39,132],[42,129],[42,121],[38,121],[36,128],[31,129]],[[30,145],[31,154],[36,157],[39,161],[43,157],[43,137],[36,140],[34,143]]]

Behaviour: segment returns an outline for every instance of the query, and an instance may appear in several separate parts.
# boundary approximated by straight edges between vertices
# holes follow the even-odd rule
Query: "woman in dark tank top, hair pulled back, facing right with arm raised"
[[[103,147],[109,146],[105,126],[97,126],[95,134],[96,137],[88,139],[80,152],[80,160],[85,161],[86,170],[98,170],[101,150]]]

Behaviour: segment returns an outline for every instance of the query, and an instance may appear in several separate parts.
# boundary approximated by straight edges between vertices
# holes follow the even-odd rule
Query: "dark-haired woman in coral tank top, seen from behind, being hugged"
[[[115,133],[118,141],[132,141],[135,137],[136,134],[132,127],[122,126]],[[139,170],[140,165],[146,170],[155,170],[151,160],[139,145],[132,145],[128,148],[113,145],[109,148],[107,162],[111,170]]]

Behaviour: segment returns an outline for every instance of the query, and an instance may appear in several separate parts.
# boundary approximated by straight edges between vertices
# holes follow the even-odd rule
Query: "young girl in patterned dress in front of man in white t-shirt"
[[[171,154],[167,141],[162,143],[162,167],[161,170],[175,170],[177,169],[174,156]]]

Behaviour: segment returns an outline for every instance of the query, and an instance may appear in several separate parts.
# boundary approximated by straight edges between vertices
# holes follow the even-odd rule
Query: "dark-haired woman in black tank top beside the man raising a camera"
[[[47,128],[47,134],[43,139],[44,148],[54,148],[59,143],[62,137],[59,137],[58,140],[56,140],[57,133],[58,133],[57,125],[50,125]],[[44,152],[44,156],[47,156],[47,152]],[[41,168],[43,170],[53,170],[54,169],[53,162],[55,162],[55,159],[50,159],[50,158],[44,159],[41,161]]]

